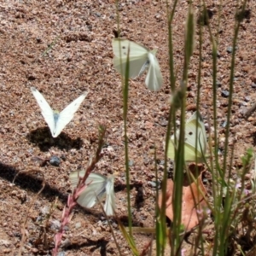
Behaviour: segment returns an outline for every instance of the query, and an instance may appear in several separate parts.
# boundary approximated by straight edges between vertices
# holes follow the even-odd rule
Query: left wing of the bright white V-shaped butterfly
[[[44,120],[49,126],[49,130],[53,136],[53,132],[55,131],[54,111],[49,107],[49,103],[46,102],[44,96],[36,88],[31,87],[31,91],[38,102],[39,107],[41,108],[41,113],[43,114]]]

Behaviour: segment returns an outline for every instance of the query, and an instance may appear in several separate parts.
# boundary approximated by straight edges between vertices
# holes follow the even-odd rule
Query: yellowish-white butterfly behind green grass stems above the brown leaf
[[[198,115],[198,117],[197,117]],[[197,141],[196,138],[196,125],[197,128]],[[176,132],[176,138],[178,143],[179,131]],[[174,134],[171,137],[171,141],[168,145],[167,155],[172,160],[175,159],[175,150],[177,146],[175,145]],[[184,137],[184,160],[185,161],[202,161],[203,156],[206,156],[207,152],[207,133],[206,128],[201,118],[201,114],[197,111],[193,113],[189,120],[187,120],[185,125],[185,137]],[[197,146],[196,146],[197,145]],[[195,151],[195,148],[197,150]]]

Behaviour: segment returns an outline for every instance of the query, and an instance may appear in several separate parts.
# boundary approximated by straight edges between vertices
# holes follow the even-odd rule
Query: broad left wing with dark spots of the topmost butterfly
[[[143,73],[144,65],[148,61],[148,49],[123,39],[113,39],[113,67],[125,77],[127,55],[129,53],[129,78],[134,79]]]

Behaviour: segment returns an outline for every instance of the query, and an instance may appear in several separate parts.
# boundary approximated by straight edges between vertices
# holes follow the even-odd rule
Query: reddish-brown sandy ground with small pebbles
[[[109,1],[110,2],[110,1]],[[113,2],[113,1],[112,1]],[[230,81],[230,47],[234,35],[236,1],[225,1],[218,24],[218,5],[207,1],[212,14],[214,37],[218,36],[218,135],[223,149],[227,112],[226,90]],[[199,5],[195,4],[199,15]],[[255,147],[253,114],[242,111],[256,96],[255,3],[251,1],[242,22],[236,49],[236,72],[230,128],[230,145],[235,144],[235,166],[240,155]],[[178,1],[172,22],[177,81],[183,73],[184,20],[187,1]],[[84,168],[96,149],[98,125],[107,125],[104,156],[95,172],[114,174],[117,214],[127,224],[125,197],[124,129],[122,88],[113,69],[111,39],[117,32],[116,6],[105,1],[2,1],[0,3],[0,254],[16,255],[21,225],[26,217],[23,255],[47,255],[53,247],[61,211],[71,192],[69,173]],[[165,139],[168,100],[171,96],[168,69],[168,32],[164,1],[127,0],[119,3],[122,38],[148,49],[158,49],[164,86],[155,93],[146,89],[145,74],[131,80],[129,91],[129,154],[131,168],[132,217],[135,226],[154,226],[154,145],[158,148],[159,177],[163,171],[162,143]],[[212,126],[212,46],[204,27],[201,69],[201,114]],[[198,35],[189,69],[188,117],[195,110],[198,70]],[[178,83],[177,83],[178,84]],[[50,106],[63,109],[84,91],[89,94],[61,135],[53,139],[44,122],[31,87],[42,92]],[[208,123],[210,121],[210,123]],[[209,129],[208,129],[209,130]],[[57,156],[60,166],[49,160]],[[20,173],[12,181],[15,175]],[[42,180],[46,187],[42,188]],[[58,201],[47,221],[50,207]],[[35,201],[34,201],[35,200]],[[32,206],[31,206],[32,204]],[[44,236],[44,228],[45,234]],[[210,230],[208,227],[208,230]],[[122,255],[131,251],[113,220]],[[43,234],[43,235],[42,235]],[[209,235],[211,236],[211,235]],[[140,251],[150,236],[135,235]],[[65,255],[117,255],[108,224],[100,207],[76,207],[63,238]]]

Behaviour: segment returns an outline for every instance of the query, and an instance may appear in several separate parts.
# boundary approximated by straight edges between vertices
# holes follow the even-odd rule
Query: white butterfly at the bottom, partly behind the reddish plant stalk
[[[84,177],[84,172],[85,171],[80,171],[79,173],[71,172],[70,181],[73,189],[79,182],[79,176]],[[98,201],[102,201],[104,195],[106,195],[104,211],[108,216],[113,215],[115,209],[113,180],[113,176],[105,177],[101,174],[90,173],[85,181],[87,187],[79,195],[77,201],[79,205],[85,208],[93,207]]]

